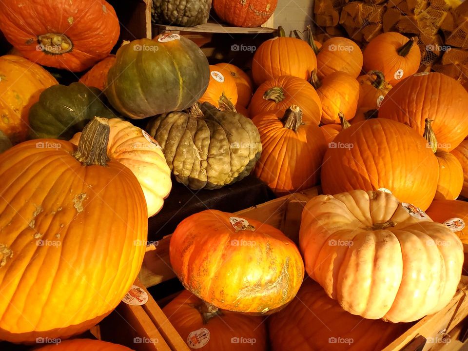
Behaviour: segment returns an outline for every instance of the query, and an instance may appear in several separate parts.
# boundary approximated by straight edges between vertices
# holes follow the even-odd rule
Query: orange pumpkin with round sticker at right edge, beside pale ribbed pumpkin
[[[434,221],[445,224],[468,245],[468,202],[460,200],[434,200],[427,215]]]

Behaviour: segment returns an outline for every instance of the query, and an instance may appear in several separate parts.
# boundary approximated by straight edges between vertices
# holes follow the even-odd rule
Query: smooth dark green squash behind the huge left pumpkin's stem
[[[104,100],[98,88],[82,83],[53,85],[40,94],[39,101],[29,110],[29,136],[70,140],[95,116],[117,117]]]

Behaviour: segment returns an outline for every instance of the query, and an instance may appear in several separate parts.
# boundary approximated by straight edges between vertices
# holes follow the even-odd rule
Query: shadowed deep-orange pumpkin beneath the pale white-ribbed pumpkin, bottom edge
[[[363,319],[344,311],[312,279],[287,308],[267,319],[272,351],[380,351],[409,329],[404,323]],[[333,339],[351,339],[330,344]]]

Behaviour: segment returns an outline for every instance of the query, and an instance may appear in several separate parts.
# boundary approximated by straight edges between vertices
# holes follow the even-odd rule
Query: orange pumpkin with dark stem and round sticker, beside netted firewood
[[[379,34],[364,49],[364,70],[380,71],[391,85],[398,84],[415,74],[421,64],[421,52],[414,45],[415,40],[396,32]]]

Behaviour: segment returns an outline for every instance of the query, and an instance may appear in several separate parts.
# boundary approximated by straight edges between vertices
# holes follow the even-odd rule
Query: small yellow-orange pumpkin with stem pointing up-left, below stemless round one
[[[359,99],[359,83],[345,72],[333,72],[321,81],[312,72],[312,85],[322,102],[323,124],[339,123],[341,112],[346,120],[356,114]]]

